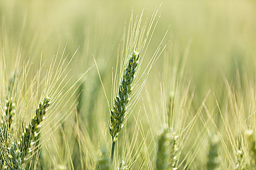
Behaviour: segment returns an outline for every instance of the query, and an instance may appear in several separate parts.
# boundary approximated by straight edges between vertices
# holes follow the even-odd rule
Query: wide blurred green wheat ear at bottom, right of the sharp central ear
[[[177,170],[177,136],[165,128],[158,139],[156,170]]]

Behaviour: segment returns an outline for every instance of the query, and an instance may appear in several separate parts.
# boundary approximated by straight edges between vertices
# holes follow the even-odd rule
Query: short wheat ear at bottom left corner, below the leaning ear
[[[7,167],[9,170],[24,170],[22,167],[22,157],[20,149],[17,147],[17,144],[12,142],[12,145],[8,150],[7,157]]]

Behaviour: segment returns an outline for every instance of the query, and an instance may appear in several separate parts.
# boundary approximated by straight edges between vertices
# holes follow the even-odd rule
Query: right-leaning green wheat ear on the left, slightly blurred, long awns
[[[35,139],[38,140],[37,136],[39,135],[40,122],[43,120],[49,105],[50,98],[46,96],[44,100],[39,103],[36,115],[30,120],[20,137],[19,149],[21,151],[22,161],[24,161],[27,154],[31,152],[30,146],[35,144]]]

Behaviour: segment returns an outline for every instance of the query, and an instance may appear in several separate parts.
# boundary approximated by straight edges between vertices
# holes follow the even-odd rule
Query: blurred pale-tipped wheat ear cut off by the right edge
[[[253,130],[247,130],[245,135],[248,139],[249,152],[250,152],[250,168],[256,169],[256,140]]]

